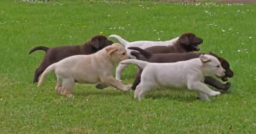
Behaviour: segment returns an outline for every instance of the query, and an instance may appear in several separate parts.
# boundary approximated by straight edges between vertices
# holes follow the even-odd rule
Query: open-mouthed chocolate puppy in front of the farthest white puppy
[[[203,39],[195,36],[194,33],[183,33],[171,46],[151,46],[145,50],[151,54],[193,52],[199,51],[198,45],[202,43]]]

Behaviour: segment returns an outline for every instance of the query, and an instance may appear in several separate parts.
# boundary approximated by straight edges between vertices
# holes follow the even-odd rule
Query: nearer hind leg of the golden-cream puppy
[[[75,86],[75,80],[72,78],[65,78],[62,80],[62,88],[61,88],[61,95],[65,95],[66,97],[72,97],[71,91]]]

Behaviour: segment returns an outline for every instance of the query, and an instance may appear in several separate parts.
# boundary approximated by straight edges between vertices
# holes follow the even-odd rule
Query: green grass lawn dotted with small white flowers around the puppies
[[[0,133],[256,134],[255,22],[253,4],[0,0]],[[186,31],[204,39],[200,52],[228,59],[235,72],[228,94],[202,102],[194,92],[158,90],[139,102],[133,91],[86,84],[64,98],[55,93],[54,74],[41,88],[32,84],[44,56],[28,54],[35,46],[82,44],[100,32],[163,41]],[[130,65],[124,82],[132,83],[135,72]]]

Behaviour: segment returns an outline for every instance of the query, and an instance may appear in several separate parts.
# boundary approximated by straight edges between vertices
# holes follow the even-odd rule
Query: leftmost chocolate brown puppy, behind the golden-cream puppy
[[[29,54],[36,50],[45,51],[45,57],[34,73],[34,81],[33,83],[38,81],[38,77],[43,73],[43,71],[55,62],[59,62],[61,59],[70,57],[72,55],[79,54],[93,54],[105,46],[112,45],[113,42],[109,41],[107,37],[103,35],[96,35],[91,38],[90,41],[85,42],[83,45],[75,45],[75,46],[57,46],[57,47],[46,47],[46,46],[37,46],[30,50]]]

